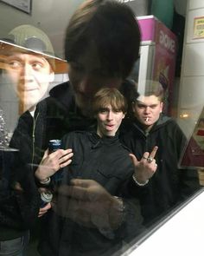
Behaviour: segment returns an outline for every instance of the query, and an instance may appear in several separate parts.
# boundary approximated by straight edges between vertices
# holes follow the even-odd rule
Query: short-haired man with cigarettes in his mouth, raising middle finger
[[[180,169],[178,162],[186,143],[185,135],[174,119],[163,115],[165,91],[159,82],[149,81],[143,95],[132,95],[132,119],[129,132],[121,140],[131,149],[132,160],[157,146],[156,171],[137,170],[128,186],[140,200],[146,226],[161,220],[173,207],[187,200],[199,189],[196,170]]]

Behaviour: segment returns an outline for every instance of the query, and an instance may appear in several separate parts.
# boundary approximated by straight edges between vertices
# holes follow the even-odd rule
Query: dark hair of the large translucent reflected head
[[[126,78],[138,58],[140,47],[140,30],[131,8],[113,0],[82,3],[67,26],[67,62],[77,60],[92,43],[108,74]]]

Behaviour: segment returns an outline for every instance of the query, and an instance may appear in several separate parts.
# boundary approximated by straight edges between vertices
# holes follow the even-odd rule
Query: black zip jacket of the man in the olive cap
[[[10,141],[10,148],[18,151],[0,152],[0,240],[22,236],[38,219],[40,194],[34,172],[48,141],[67,133],[66,118],[73,98],[68,83],[61,84],[54,92],[53,97],[36,106],[34,118],[29,111],[20,116]],[[14,189],[16,182],[23,192]]]

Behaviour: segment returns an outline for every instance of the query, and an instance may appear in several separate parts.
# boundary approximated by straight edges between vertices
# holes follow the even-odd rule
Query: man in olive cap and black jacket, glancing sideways
[[[20,255],[28,244],[29,228],[35,226],[39,213],[40,194],[32,163],[41,161],[41,136],[38,135],[41,135],[40,123],[45,111],[36,109],[36,104],[54,80],[55,58],[53,46],[42,30],[21,25],[9,35],[12,43],[2,42],[0,49],[3,79],[10,95],[13,91],[16,94],[19,112],[25,113],[20,117],[11,141],[8,140],[10,147],[7,143],[7,147],[1,147],[0,151],[0,255]],[[46,47],[38,49],[40,45]],[[38,126],[33,129],[36,120]],[[34,148],[38,148],[37,153]]]

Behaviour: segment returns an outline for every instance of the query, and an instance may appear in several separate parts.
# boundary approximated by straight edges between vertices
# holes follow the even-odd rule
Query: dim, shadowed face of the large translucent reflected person
[[[87,115],[91,108],[92,97],[103,87],[119,89],[122,79],[107,75],[96,51],[90,47],[76,61],[68,63],[68,76],[73,86],[76,104]]]

